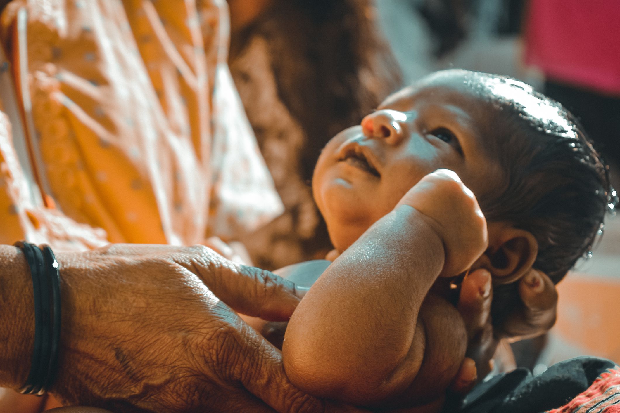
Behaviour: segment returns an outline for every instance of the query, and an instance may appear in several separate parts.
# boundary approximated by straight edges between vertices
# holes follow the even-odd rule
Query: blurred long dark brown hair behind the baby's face
[[[332,136],[402,87],[375,14],[373,0],[280,0],[247,29],[268,41],[278,95],[306,134],[306,180]]]

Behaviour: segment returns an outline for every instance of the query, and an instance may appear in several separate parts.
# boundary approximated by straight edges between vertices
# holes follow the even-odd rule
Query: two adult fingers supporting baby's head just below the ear
[[[539,336],[556,322],[557,290],[546,274],[530,270],[519,281],[519,293],[520,306],[494,331],[490,320],[493,289],[489,272],[476,270],[461,284],[458,310],[467,328],[467,355],[475,360],[479,378],[492,369],[490,362],[501,339],[517,341]]]

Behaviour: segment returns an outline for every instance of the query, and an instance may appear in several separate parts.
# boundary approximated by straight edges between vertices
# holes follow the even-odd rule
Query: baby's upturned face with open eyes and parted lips
[[[325,146],[312,190],[335,248],[348,248],[438,168],[458,173],[477,196],[498,183],[500,167],[483,139],[489,106],[466,80],[458,72],[427,77]]]

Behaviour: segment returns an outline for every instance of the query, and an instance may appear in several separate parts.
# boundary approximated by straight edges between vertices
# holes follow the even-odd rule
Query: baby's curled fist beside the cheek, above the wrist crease
[[[439,169],[428,174],[396,207],[401,205],[414,207],[430,218],[443,241],[446,258],[440,277],[461,274],[487,249],[487,221],[474,193],[453,171]]]

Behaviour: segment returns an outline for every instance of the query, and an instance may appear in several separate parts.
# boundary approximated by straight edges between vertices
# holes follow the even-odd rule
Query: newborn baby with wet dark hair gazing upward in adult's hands
[[[615,196],[558,103],[460,70],[397,92],[335,136],[312,189],[342,254],[291,317],[286,374],[310,394],[371,408],[445,393],[466,350],[452,302],[467,271],[492,275],[500,323],[526,272],[557,283],[589,251]]]

